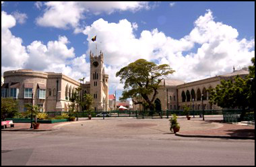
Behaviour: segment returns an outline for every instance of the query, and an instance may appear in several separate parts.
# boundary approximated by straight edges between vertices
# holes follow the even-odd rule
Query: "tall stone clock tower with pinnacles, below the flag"
[[[101,51],[99,56],[90,52],[90,94],[94,99],[94,111],[108,111],[108,75],[104,74]]]

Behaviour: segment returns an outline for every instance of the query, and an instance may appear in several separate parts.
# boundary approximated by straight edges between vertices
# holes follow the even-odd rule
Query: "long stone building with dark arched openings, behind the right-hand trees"
[[[231,73],[205,78],[194,82],[183,82],[181,80],[162,80],[158,94],[156,95],[156,110],[178,110],[183,109],[187,105],[194,109],[222,109],[217,105],[210,105],[209,93],[207,89],[215,88],[220,85],[221,80],[228,80],[234,76],[245,78],[249,74],[247,68],[242,70],[234,70]],[[151,99],[152,97],[150,97]],[[202,108],[203,98],[203,108]],[[143,110],[142,105],[133,105],[134,110]]]

